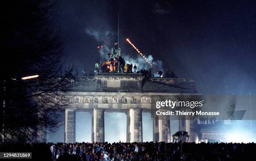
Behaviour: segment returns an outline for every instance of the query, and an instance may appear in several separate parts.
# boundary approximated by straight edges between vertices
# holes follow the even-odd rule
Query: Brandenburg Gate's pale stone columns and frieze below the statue
[[[76,77],[61,101],[65,106],[66,143],[76,141],[76,111],[92,114],[92,141],[105,142],[105,112],[125,112],[127,142],[142,142],[142,112],[151,112],[154,95],[196,94],[195,80],[189,78],[145,78],[142,74],[98,73],[95,77]],[[171,141],[170,121],[153,121],[153,141]],[[189,125],[182,123],[183,130]],[[38,130],[38,140],[46,141],[46,133]]]

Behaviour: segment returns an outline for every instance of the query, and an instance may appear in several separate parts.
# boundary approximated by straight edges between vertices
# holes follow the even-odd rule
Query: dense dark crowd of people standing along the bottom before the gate
[[[52,159],[81,161],[249,161],[255,143],[48,143]]]

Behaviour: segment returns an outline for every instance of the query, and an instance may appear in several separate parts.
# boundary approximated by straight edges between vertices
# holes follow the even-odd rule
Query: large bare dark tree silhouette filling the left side
[[[67,91],[72,66],[59,77],[65,66],[61,59],[64,38],[59,28],[51,26],[54,3],[50,2],[6,1],[2,5],[0,134],[5,141],[33,141],[39,130],[54,130],[63,118],[61,93]],[[21,79],[35,74],[39,77]]]

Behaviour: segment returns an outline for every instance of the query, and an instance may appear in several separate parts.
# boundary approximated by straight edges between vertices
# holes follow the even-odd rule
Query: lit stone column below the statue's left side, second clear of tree
[[[105,142],[104,111],[105,109],[93,109],[92,141]]]

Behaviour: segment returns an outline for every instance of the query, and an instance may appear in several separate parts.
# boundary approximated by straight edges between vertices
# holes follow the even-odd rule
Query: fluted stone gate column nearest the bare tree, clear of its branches
[[[65,143],[75,143],[76,141],[76,109],[65,109]]]

